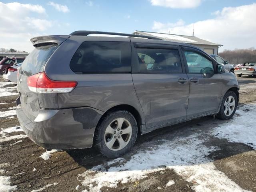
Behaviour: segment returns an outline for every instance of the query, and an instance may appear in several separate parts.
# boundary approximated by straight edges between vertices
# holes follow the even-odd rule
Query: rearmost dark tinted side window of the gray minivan
[[[131,72],[130,42],[83,42],[74,54],[70,68],[74,72]]]

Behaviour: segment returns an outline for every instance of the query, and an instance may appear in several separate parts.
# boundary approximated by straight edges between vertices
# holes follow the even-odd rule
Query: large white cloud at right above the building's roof
[[[170,23],[154,22],[152,29],[157,32],[192,35],[223,44],[223,49],[249,48],[255,46],[256,3],[225,7],[213,13],[214,18],[195,23],[172,26]],[[178,23],[178,22],[177,22]]]

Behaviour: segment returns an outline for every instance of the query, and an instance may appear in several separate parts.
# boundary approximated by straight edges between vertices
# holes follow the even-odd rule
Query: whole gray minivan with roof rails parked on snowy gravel
[[[95,146],[115,158],[138,134],[206,115],[230,119],[238,105],[234,74],[188,44],[95,31],[31,42],[17,77],[16,113],[46,149]]]

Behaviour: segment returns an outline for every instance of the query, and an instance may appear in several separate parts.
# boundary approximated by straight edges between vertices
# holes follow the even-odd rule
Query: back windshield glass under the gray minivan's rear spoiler
[[[57,44],[45,45],[35,48],[23,61],[20,73],[31,76],[44,71],[44,65],[58,47]]]

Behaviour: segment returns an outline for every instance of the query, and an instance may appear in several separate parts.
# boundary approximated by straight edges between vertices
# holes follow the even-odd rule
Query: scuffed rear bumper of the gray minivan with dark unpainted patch
[[[102,116],[101,111],[89,107],[40,109],[34,121],[26,116],[22,108],[17,107],[16,113],[28,138],[46,149],[92,147],[94,131]]]

